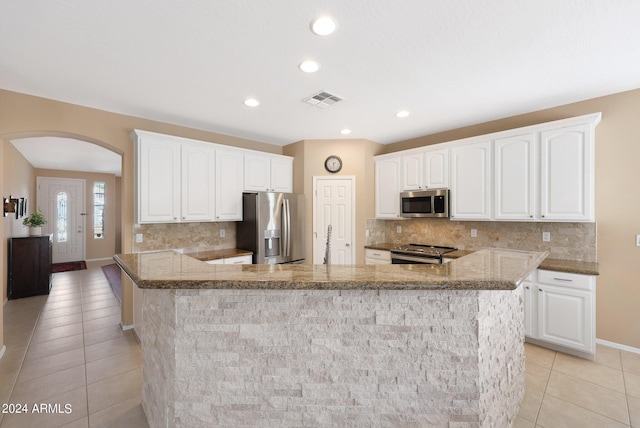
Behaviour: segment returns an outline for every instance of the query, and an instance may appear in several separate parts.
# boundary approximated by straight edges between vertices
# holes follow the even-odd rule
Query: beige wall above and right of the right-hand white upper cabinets
[[[385,152],[595,112],[602,112],[596,128],[597,337],[640,348],[640,89],[402,141]]]

